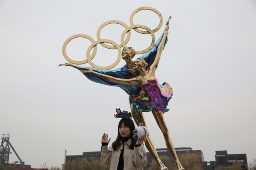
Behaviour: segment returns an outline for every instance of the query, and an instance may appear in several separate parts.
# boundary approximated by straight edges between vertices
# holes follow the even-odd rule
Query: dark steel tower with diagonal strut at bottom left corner
[[[0,164],[8,164],[9,163],[9,155],[10,155],[10,146],[13,152],[15,152],[15,155],[18,157],[20,163],[24,165],[24,162],[22,162],[22,159],[18,156],[18,153],[15,151],[13,146],[11,145],[11,142],[9,141],[10,134],[2,134],[2,142],[0,145]]]

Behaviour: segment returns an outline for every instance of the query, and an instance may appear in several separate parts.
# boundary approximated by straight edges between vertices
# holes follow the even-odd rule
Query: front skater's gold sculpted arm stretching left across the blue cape
[[[96,71],[93,71],[91,69],[84,69],[84,70],[80,70],[83,74],[95,74],[97,76],[99,76],[100,78],[106,79],[107,81],[111,81],[113,83],[118,83],[118,84],[122,84],[122,85],[138,85],[139,84],[139,79],[138,78],[129,78],[129,79],[125,79],[125,78],[116,78],[116,77],[112,77],[110,75],[106,75],[106,74],[102,74]]]

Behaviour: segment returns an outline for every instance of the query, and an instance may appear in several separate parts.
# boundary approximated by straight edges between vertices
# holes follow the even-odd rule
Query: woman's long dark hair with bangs
[[[117,151],[117,149],[121,146],[122,137],[121,137],[121,135],[119,133],[119,127],[121,127],[122,123],[124,123],[124,125],[129,127],[129,129],[131,130],[131,133],[130,133],[129,137],[132,140],[132,144],[129,146],[129,149],[134,149],[134,145],[136,143],[136,140],[135,140],[135,138],[132,137],[133,136],[132,131],[135,130],[135,125],[134,125],[134,123],[133,123],[131,118],[122,118],[120,120],[120,122],[118,124],[118,129],[117,129],[117,132],[118,132],[117,133],[117,139],[112,143],[112,147],[113,147],[114,150]]]

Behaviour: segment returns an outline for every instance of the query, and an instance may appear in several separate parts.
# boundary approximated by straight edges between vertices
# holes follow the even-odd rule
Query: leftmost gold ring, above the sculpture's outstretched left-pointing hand
[[[85,34],[76,34],[76,35],[73,35],[71,37],[69,37],[63,44],[62,46],[62,53],[63,53],[63,56],[65,57],[65,59],[67,61],[69,61],[69,63],[73,63],[73,64],[85,64],[88,62],[88,60],[82,60],[82,61],[76,61],[76,60],[72,60],[71,58],[68,57],[67,53],[66,53],[66,47],[68,45],[68,43],[72,40],[72,39],[75,39],[75,38],[78,38],[78,37],[83,37],[83,38],[86,38],[86,39],[89,39],[91,41],[91,43],[94,43],[95,40],[93,38],[91,38],[89,35],[85,35]],[[93,57],[95,57],[96,55],[96,52],[97,52],[97,46],[95,46],[95,48],[93,48],[93,52],[91,54],[91,57],[88,57],[91,59],[93,59]]]

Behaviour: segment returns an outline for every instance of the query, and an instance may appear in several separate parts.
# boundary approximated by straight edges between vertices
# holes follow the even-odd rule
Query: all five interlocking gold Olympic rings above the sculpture
[[[160,22],[158,24],[158,26],[156,28],[154,28],[153,30],[151,30],[150,28],[144,26],[144,25],[134,25],[133,24],[133,17],[134,15],[139,12],[139,11],[142,11],[142,10],[150,10],[150,11],[154,11],[159,19],[160,19]],[[109,24],[119,24],[119,25],[122,25],[124,26],[125,30],[124,32],[122,33],[121,35],[121,44],[117,44],[115,42],[113,42],[112,40],[109,40],[109,39],[101,39],[100,37],[100,32],[102,30],[103,27],[105,27],[106,25],[109,25]],[[130,40],[131,38],[131,32],[130,30],[131,29],[134,29],[136,32],[139,32],[139,33],[142,33],[142,34],[150,34],[151,37],[152,37],[152,41],[151,41],[151,44],[148,48],[146,48],[145,50],[141,50],[141,51],[135,51],[135,54],[143,54],[143,53],[146,53],[148,52],[149,50],[151,50],[155,44],[155,35],[154,35],[154,32],[157,32],[162,24],[163,24],[163,17],[161,15],[161,13],[159,11],[157,11],[155,8],[152,8],[152,7],[140,7],[138,9],[136,9],[135,11],[132,12],[131,16],[130,16],[130,24],[131,26],[128,27],[128,25],[126,25],[124,22],[122,21],[117,21],[117,20],[111,20],[111,21],[107,21],[107,22],[104,22],[102,25],[99,26],[98,30],[97,30],[97,41],[95,41],[93,38],[91,38],[89,35],[85,35],[85,34],[76,34],[76,35],[73,35],[71,37],[69,37],[63,44],[62,46],[62,53],[63,53],[63,56],[65,57],[65,59],[67,61],[69,61],[70,63],[73,63],[73,64],[85,64],[85,63],[89,63],[92,67],[95,67],[95,68],[98,68],[98,69],[111,69],[113,67],[115,67],[121,60],[121,47],[126,47],[126,44],[128,43],[128,41]],[[142,31],[138,28],[143,28],[145,29],[146,31]],[[124,40],[124,36],[126,35],[127,33],[127,37],[126,39]],[[75,39],[75,38],[78,38],[78,37],[83,37],[83,38],[86,38],[88,40],[91,41],[91,45],[88,47],[88,50],[86,52],[86,60],[82,60],[82,61],[76,61],[76,60],[72,60],[68,57],[67,53],[66,53],[66,46],[67,44],[72,40],[72,39]],[[106,67],[100,67],[96,64],[94,64],[91,60],[95,57],[96,55],[96,52],[97,52],[97,44],[101,44],[102,46],[108,48],[108,49],[117,49],[118,51],[118,57],[117,57],[117,60],[109,65],[109,66],[106,66]],[[105,43],[110,43],[112,44],[113,46],[109,46]],[[93,52],[90,56],[90,52],[91,52],[91,49],[93,48]]]

